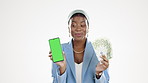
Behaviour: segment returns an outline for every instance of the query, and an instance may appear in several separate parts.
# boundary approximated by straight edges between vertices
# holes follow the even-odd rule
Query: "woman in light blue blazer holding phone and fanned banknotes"
[[[53,63],[53,83],[108,83],[109,61],[105,56],[98,61],[91,42],[87,40],[88,16],[83,10],[69,15],[72,40],[62,44],[64,61]],[[49,53],[52,60],[52,53]]]

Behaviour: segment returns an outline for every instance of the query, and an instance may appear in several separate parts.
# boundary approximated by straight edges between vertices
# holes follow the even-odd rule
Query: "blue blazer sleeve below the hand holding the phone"
[[[52,77],[53,77],[53,83],[66,83],[66,74],[67,71],[64,72],[64,74],[59,74],[59,66],[57,66],[55,63],[52,65]]]

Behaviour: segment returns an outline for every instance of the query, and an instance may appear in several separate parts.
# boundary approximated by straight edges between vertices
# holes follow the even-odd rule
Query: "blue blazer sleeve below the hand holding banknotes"
[[[95,83],[109,83],[108,69],[103,71],[103,74],[100,77],[100,79],[97,79],[96,76],[95,76]]]

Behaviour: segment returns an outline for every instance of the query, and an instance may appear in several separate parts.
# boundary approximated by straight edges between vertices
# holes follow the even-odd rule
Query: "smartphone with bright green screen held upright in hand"
[[[63,53],[60,44],[60,38],[49,39],[50,50],[52,53],[53,62],[63,61]]]

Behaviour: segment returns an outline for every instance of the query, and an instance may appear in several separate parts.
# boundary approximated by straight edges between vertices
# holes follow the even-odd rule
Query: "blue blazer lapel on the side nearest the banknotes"
[[[93,47],[91,45],[91,42],[87,40],[84,52],[83,65],[82,65],[82,80],[84,79],[85,73],[87,71],[92,56],[93,56]]]

